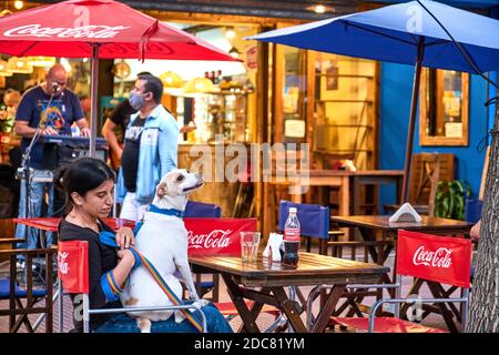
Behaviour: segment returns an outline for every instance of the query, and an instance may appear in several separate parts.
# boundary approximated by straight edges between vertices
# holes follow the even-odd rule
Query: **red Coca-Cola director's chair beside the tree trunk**
[[[400,230],[398,231],[397,240],[397,283],[369,285],[370,287],[395,287],[396,298],[378,300],[373,305],[368,317],[332,317],[332,323],[358,331],[368,331],[369,333],[444,333],[445,331],[442,329],[427,327],[399,318],[399,305],[403,303],[439,304],[440,308],[446,312],[444,308],[446,304],[457,302],[464,305],[461,308],[461,329],[464,331],[468,314],[469,288],[471,287],[470,266],[470,240]],[[462,290],[461,296],[445,298],[442,297],[444,294],[434,294],[434,298],[420,298],[414,297],[414,295],[408,295],[406,298],[400,297],[401,275],[421,278],[428,283],[460,287]],[[349,287],[354,286],[349,285]],[[320,286],[316,287],[310,293],[309,301],[314,300],[313,293],[317,293],[320,288]],[[386,303],[396,305],[396,316],[376,317],[378,308]],[[309,316],[309,322],[312,321],[310,318],[313,317]]]

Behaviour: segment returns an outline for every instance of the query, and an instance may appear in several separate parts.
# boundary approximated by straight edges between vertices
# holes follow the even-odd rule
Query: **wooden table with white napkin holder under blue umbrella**
[[[469,237],[469,232],[471,230],[472,223],[440,219],[440,217],[429,217],[421,215],[421,222],[399,222],[389,223],[387,215],[350,215],[350,216],[333,216],[332,222],[336,223],[338,227],[356,227],[360,232],[364,241],[376,241],[376,233],[381,232],[383,239],[393,239],[394,243],[388,244],[385,250],[381,251],[381,255],[378,255],[378,251],[375,247],[369,247],[369,254],[374,261],[377,261],[380,265],[384,265],[386,258],[395,246],[395,240],[398,230],[407,230],[415,232],[422,232],[436,235],[448,235],[448,236],[465,236]],[[394,267],[394,274],[396,273]],[[386,277],[386,276],[385,276]],[[422,285],[422,280],[416,280],[411,290],[408,294],[418,294]],[[445,290],[439,283],[427,282],[431,294],[436,298],[442,298],[449,295],[454,288]],[[454,304],[448,304],[450,311],[460,320],[460,312],[454,306]],[[438,308],[428,307],[424,305],[429,312],[441,313],[447,326],[450,331],[457,332],[457,326],[452,321],[451,314],[449,314],[446,308],[446,304],[438,304]],[[407,307],[406,307],[407,308]],[[403,308],[404,310],[404,308]],[[404,313],[403,313],[404,314]]]

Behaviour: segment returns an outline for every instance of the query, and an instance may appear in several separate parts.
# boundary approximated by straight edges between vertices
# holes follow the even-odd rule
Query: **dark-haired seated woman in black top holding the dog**
[[[101,243],[99,233],[114,233],[102,217],[106,217],[113,205],[114,172],[102,161],[82,158],[55,173],[54,184],[64,192],[67,211],[59,224],[60,241],[89,242],[89,301],[91,308],[122,307],[118,297],[109,293],[106,280],[102,277],[111,272],[118,285],[123,285],[135,264],[135,256],[129,248],[134,244],[132,230],[120,229],[116,233],[119,248]],[[82,332],[81,297],[72,295],[73,323],[77,332]],[[111,300],[110,300],[111,298]],[[112,300],[114,298],[114,300]],[[210,333],[232,333],[224,316],[213,305],[202,307]],[[197,311],[195,311],[197,312]],[[153,322],[152,333],[197,332],[187,321],[175,323],[171,316],[166,321]],[[125,313],[92,315],[90,331],[94,333],[139,333],[136,321]]]

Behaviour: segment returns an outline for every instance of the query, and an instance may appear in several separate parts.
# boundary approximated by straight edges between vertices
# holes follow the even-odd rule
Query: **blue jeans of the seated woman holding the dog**
[[[208,333],[233,333],[228,322],[212,303],[204,306],[202,310],[206,316],[206,328]],[[136,326],[136,320],[129,317],[124,313],[114,315],[93,329],[93,333],[140,332],[141,329]],[[175,317],[172,315],[166,321],[152,322],[151,333],[197,333],[197,329],[187,320],[176,323]]]

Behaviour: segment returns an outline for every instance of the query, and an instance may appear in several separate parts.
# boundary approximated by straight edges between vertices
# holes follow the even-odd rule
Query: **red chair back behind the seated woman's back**
[[[67,293],[89,293],[88,242],[59,242],[58,275]]]

